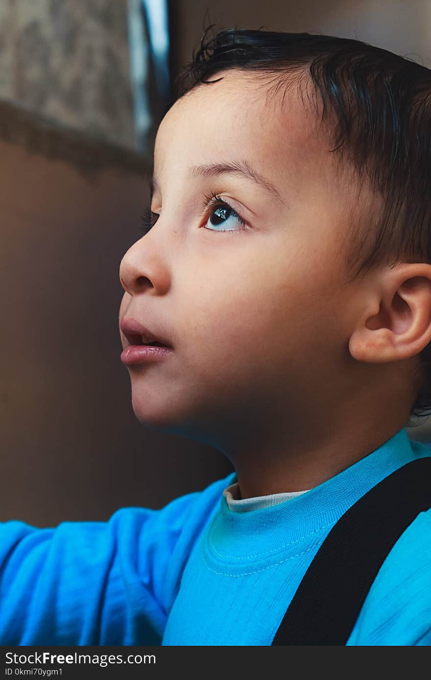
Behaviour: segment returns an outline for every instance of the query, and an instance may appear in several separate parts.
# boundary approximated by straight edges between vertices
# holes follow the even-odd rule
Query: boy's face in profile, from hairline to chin
[[[159,218],[120,267],[120,320],[138,320],[174,348],[128,367],[135,415],[224,452],[244,437],[257,444],[268,432],[293,435],[310,413],[334,418],[345,381],[349,194],[295,91],[282,107],[252,75],[229,71],[172,106],[155,143]],[[189,170],[245,162],[278,197],[240,173]],[[212,191],[245,228],[232,212],[223,220],[217,203],[204,214]]]

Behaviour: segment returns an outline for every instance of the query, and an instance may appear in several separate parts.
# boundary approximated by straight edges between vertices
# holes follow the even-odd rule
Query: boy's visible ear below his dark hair
[[[365,296],[364,314],[349,339],[357,361],[408,359],[431,342],[431,265],[385,268]]]

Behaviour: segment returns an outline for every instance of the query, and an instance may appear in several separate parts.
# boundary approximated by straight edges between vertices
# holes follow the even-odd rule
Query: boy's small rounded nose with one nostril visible
[[[164,294],[170,285],[167,263],[146,239],[147,236],[133,243],[120,262],[121,285],[132,296],[144,290]]]

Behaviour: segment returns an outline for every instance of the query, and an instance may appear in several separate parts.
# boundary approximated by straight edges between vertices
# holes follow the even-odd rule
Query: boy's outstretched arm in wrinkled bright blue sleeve
[[[0,524],[1,645],[159,645],[225,479],[108,522]]]

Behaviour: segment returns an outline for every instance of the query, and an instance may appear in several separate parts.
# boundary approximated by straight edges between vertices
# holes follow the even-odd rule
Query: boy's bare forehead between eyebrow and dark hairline
[[[217,78],[178,99],[161,121],[155,175],[166,165],[180,172],[185,165],[246,158],[280,187],[281,175],[298,177],[306,165],[315,165],[321,154],[316,116],[296,86],[274,94],[268,77],[252,72],[221,71],[212,76]]]

